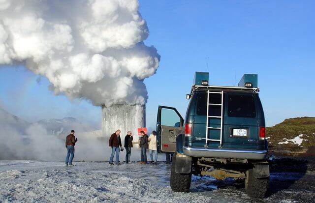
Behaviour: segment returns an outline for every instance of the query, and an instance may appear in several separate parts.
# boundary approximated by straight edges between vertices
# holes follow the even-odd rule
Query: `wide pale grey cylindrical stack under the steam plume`
[[[102,134],[110,136],[118,128],[125,135],[130,130],[136,135],[138,127],[145,127],[145,105],[113,104],[102,106]]]

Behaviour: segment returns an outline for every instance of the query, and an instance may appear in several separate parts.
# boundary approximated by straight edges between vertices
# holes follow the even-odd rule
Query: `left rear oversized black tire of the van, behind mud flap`
[[[171,181],[170,185],[174,192],[188,192],[191,183],[191,173],[177,174],[175,172],[176,153],[174,153],[171,167]]]

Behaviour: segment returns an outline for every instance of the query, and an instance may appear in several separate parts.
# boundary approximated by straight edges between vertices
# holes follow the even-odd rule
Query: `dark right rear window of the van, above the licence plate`
[[[228,95],[228,116],[256,117],[254,97],[251,95]]]

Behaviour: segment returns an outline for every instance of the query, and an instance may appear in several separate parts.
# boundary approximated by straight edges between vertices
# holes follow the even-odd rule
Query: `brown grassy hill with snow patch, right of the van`
[[[271,151],[283,154],[304,153],[315,146],[315,117],[288,118],[266,128]]]

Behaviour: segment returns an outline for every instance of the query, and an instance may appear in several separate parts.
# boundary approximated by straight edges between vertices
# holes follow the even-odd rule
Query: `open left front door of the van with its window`
[[[176,136],[184,131],[184,119],[173,107],[158,106],[157,148],[159,153],[176,151]]]

